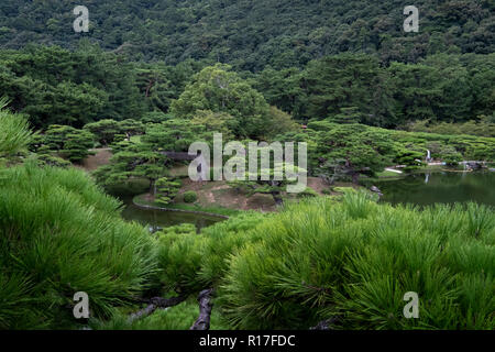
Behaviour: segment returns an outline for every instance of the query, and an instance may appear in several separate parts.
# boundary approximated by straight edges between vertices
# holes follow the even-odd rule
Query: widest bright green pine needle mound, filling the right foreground
[[[361,200],[355,199],[361,198]],[[493,329],[495,227],[483,206],[419,210],[308,199],[230,256],[221,309],[240,329]],[[406,319],[404,294],[419,295]]]

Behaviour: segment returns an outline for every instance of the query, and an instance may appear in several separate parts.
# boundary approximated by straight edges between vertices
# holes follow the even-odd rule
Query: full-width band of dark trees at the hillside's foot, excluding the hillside
[[[75,52],[57,46],[0,51],[0,90],[10,107],[28,114],[38,129],[142,119],[153,111],[170,112],[172,101],[207,66],[193,61],[177,66],[128,62],[98,46],[81,45]],[[439,54],[388,67],[371,55],[339,54],[315,59],[304,69],[266,68],[257,74],[218,67],[301,123],[330,118],[421,131],[415,122],[422,121],[447,123],[444,133],[452,131],[451,123],[460,133],[495,133],[494,54]]]

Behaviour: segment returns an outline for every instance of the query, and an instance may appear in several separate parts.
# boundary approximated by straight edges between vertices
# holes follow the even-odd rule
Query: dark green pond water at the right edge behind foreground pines
[[[436,202],[475,201],[495,206],[495,173],[441,172],[373,182],[391,204],[429,206]],[[371,186],[371,185],[370,185]]]

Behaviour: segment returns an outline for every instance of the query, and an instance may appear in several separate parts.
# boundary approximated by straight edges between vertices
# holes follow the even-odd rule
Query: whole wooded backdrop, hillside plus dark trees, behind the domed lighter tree
[[[494,135],[490,1],[419,1],[419,33],[402,1],[87,1],[88,33],[75,6],[0,4],[0,90],[36,128],[168,113],[223,63],[302,123]]]

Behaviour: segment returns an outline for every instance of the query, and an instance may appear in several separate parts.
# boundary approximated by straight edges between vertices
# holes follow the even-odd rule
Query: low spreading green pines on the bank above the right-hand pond
[[[491,138],[393,131],[328,120],[310,122],[305,133],[315,144],[308,151],[309,173],[329,184],[345,178],[358,182],[361,174],[373,175],[394,164],[405,165],[406,172],[418,168],[425,164],[427,150],[452,165],[462,160],[495,158],[495,139]]]

